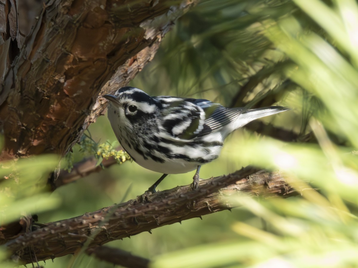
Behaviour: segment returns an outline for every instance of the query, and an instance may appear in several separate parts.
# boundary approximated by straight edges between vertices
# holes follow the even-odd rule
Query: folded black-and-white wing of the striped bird
[[[240,108],[229,109],[205,99],[185,99],[168,96],[155,97],[162,105],[161,126],[169,135],[180,139],[194,139],[236,120]]]

